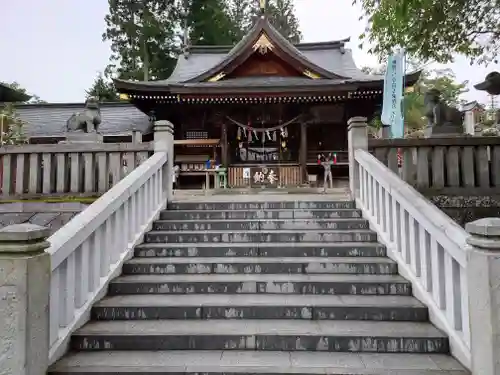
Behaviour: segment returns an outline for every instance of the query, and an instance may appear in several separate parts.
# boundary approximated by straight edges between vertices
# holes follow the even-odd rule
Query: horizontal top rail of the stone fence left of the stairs
[[[58,143],[50,145],[6,145],[0,147],[0,155],[32,153],[82,153],[82,152],[131,152],[152,151],[153,143]]]

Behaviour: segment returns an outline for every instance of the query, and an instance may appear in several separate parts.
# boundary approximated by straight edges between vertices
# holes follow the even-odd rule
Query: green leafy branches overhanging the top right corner
[[[361,35],[383,56],[404,47],[424,61],[447,63],[453,54],[471,63],[496,61],[500,48],[499,0],[354,0],[367,21]]]

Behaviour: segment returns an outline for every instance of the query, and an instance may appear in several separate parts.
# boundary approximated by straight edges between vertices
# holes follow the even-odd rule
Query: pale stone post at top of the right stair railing
[[[354,151],[368,149],[368,124],[366,117],[352,117],[347,121],[347,139],[349,147],[349,188],[353,199],[359,197],[360,176]]]

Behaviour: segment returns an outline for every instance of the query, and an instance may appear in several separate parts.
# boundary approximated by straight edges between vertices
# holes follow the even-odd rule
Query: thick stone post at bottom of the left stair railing
[[[0,374],[47,373],[49,235],[34,224],[0,229]]]

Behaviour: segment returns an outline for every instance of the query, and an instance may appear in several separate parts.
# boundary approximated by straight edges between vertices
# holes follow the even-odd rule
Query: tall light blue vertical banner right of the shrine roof
[[[390,55],[387,59],[381,120],[384,125],[391,127],[392,138],[403,138],[404,134],[404,60],[404,52]]]

